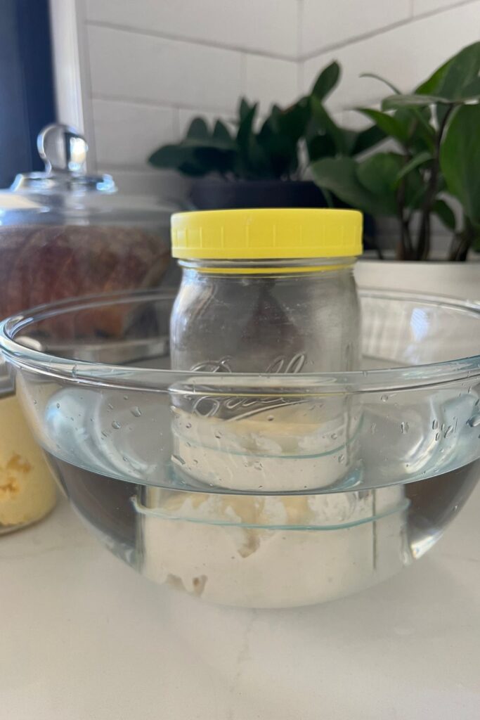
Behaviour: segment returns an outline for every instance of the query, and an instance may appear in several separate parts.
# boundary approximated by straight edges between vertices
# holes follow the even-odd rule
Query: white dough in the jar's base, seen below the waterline
[[[320,603],[405,562],[402,487],[284,498],[165,493],[150,488],[139,508],[142,572],[214,603]],[[391,514],[371,521],[374,512]]]

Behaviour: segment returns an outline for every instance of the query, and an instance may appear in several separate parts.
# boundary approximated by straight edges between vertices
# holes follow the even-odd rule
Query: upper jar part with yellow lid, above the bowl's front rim
[[[173,369],[339,372],[358,367],[354,210],[227,210],[173,216],[183,277]]]

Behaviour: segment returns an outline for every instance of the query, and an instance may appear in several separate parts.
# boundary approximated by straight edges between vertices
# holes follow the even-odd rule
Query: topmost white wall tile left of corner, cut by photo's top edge
[[[86,13],[90,22],[296,56],[296,0],[87,0]]]

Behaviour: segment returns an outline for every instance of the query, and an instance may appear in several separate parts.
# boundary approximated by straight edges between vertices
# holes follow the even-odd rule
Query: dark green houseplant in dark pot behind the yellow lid
[[[377,124],[353,132],[332,119],[323,102],[339,79],[340,66],[331,63],[309,94],[286,108],[273,105],[263,122],[258,104],[245,99],[232,124],[209,127],[196,117],[179,143],[158,148],[149,162],[194,178],[191,199],[202,209],[338,204],[335,193],[304,179],[309,164],[356,156],[384,138]]]

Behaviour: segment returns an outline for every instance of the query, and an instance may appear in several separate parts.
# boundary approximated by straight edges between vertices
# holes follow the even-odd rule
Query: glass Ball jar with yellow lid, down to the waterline
[[[230,489],[328,486],[353,463],[360,421],[351,399],[268,393],[278,374],[358,369],[361,318],[353,277],[361,253],[354,210],[228,210],[172,218],[183,279],[171,316],[176,370],[254,373],[265,396],[228,397],[212,377],[204,395],[173,401],[177,462]],[[225,383],[224,383],[225,384]],[[299,417],[299,413],[301,417]],[[262,460],[250,462],[255,447]],[[279,474],[279,456],[288,455]],[[250,459],[249,459],[250,456]],[[306,459],[307,458],[307,459]]]

